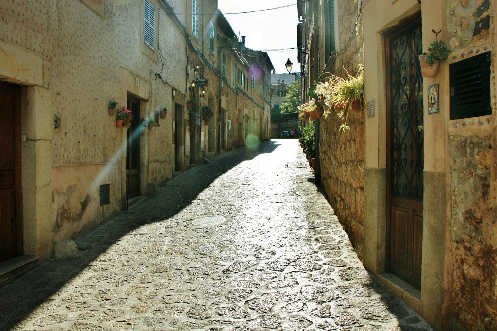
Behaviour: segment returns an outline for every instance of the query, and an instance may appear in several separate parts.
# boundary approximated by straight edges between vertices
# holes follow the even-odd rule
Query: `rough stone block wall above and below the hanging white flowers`
[[[323,72],[339,77],[357,73],[357,66],[363,63],[361,26],[355,26],[360,12],[359,1],[336,1],[336,15],[339,18],[336,56],[326,63]],[[320,22],[323,26],[323,22]],[[322,32],[322,38],[325,36]],[[324,44],[320,45],[320,56],[324,56]],[[331,110],[328,118],[321,118],[320,162],[321,185],[335,214],[357,254],[363,255],[364,241],[364,110],[348,112],[350,130],[340,131],[343,120]]]

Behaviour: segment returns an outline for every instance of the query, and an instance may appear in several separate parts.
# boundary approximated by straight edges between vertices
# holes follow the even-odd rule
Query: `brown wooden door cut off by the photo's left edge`
[[[20,87],[0,82],[0,262],[22,254]]]

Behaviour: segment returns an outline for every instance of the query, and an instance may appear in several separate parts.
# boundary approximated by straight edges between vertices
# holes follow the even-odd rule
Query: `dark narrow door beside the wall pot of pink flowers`
[[[133,120],[126,139],[126,196],[134,198],[140,195],[140,100],[128,96],[127,104]]]

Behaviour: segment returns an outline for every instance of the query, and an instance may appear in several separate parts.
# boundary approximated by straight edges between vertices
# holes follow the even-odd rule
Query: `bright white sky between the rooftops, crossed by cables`
[[[218,8],[225,14],[238,37],[245,36],[245,46],[267,52],[277,74],[288,73],[285,63],[289,58],[293,63],[292,72],[300,69],[297,64],[297,50],[287,49],[297,45],[297,1],[295,0],[218,0]],[[289,5],[286,8],[258,11],[243,14],[230,12],[268,9]]]

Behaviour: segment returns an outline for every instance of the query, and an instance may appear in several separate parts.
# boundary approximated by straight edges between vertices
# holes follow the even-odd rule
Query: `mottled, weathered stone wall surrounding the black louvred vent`
[[[493,114],[452,120],[449,125],[451,212],[446,284],[450,291],[444,310],[454,330],[497,329],[497,36],[492,17],[496,10],[496,1],[490,0],[446,5],[449,62],[492,51]]]

